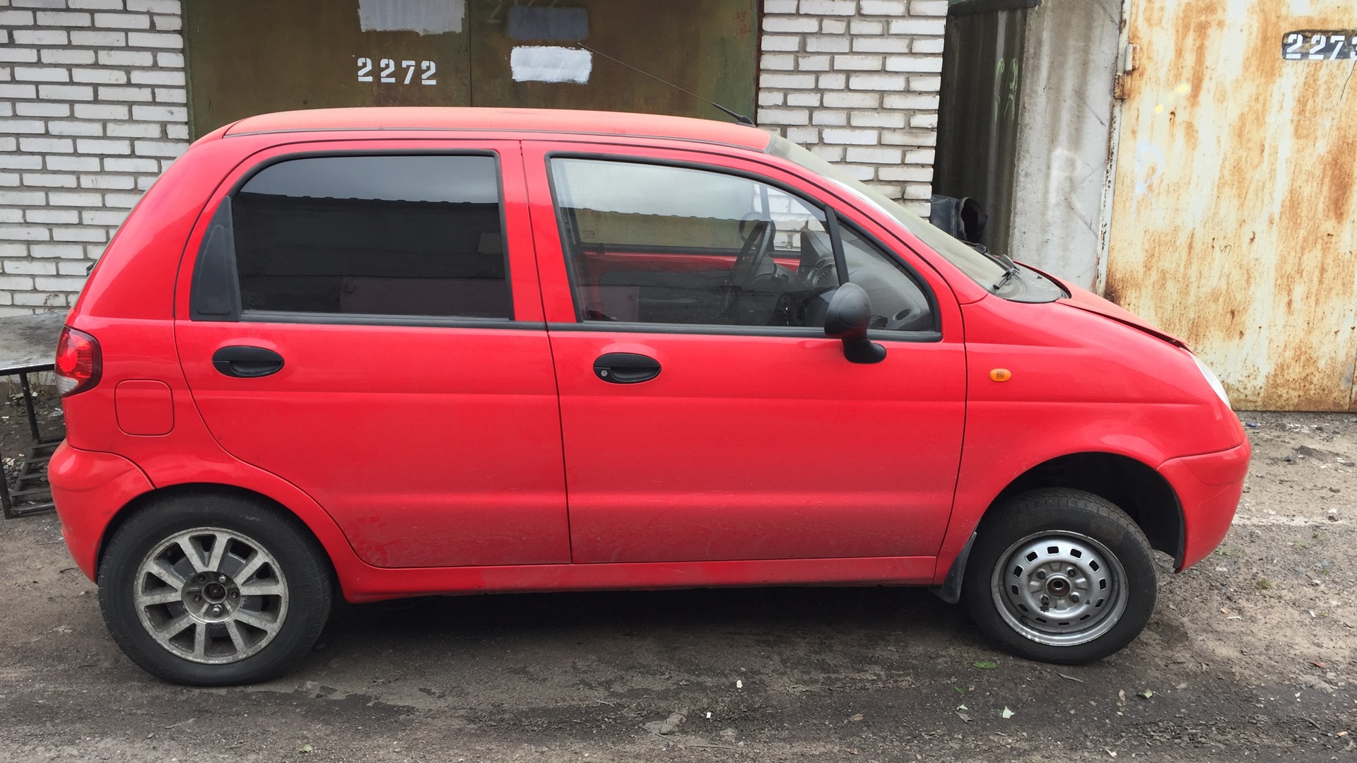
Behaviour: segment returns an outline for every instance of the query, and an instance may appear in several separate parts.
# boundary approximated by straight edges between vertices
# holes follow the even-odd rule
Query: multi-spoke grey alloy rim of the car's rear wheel
[[[137,566],[132,601],[163,649],[204,665],[237,663],[273,642],[288,581],[258,540],[199,527],[161,540]]]

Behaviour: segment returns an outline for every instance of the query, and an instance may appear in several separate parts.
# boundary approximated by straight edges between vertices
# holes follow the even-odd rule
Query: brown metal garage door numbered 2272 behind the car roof
[[[183,12],[194,137],[252,114],[327,106],[726,118],[582,46],[742,114],[754,109],[757,0],[185,0]],[[585,71],[546,81],[562,72],[516,71],[525,52],[552,65],[565,54]]]

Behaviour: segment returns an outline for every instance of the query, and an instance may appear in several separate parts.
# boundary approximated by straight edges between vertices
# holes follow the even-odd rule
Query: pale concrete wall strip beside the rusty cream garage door
[[[1092,289],[1111,145],[1122,0],[1027,11],[1008,246]]]

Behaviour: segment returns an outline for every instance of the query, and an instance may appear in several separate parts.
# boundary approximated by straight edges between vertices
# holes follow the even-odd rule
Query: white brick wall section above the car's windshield
[[[761,128],[925,212],[946,0],[764,0]]]

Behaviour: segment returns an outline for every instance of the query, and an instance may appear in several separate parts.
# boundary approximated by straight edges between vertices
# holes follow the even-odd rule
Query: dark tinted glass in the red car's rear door
[[[491,156],[271,164],[232,200],[244,310],[512,318]]]

